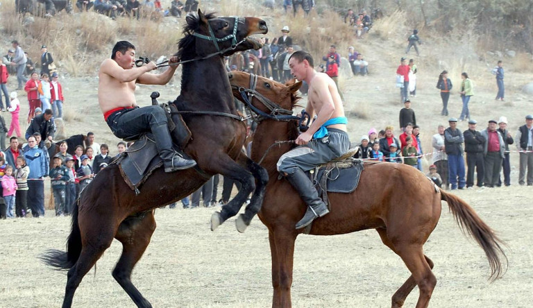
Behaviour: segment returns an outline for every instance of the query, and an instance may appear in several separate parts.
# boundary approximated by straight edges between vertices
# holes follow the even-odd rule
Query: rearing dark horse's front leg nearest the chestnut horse
[[[246,169],[248,169],[248,171],[250,171],[255,178],[255,191],[253,191],[250,204],[246,206],[244,213],[240,214],[239,218],[237,218],[235,221],[235,227],[237,227],[237,231],[242,233],[246,230],[246,228],[248,228],[248,225],[250,225],[253,216],[259,213],[261,209],[264,198],[264,190],[267,188],[267,183],[269,182],[269,173],[267,172],[267,169],[264,169],[262,166],[244,155],[240,155],[237,162],[246,166]]]

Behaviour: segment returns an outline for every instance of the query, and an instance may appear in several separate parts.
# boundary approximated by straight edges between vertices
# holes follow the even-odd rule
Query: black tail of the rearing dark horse
[[[68,270],[72,268],[78,261],[81,254],[81,232],[78,225],[78,198],[74,209],[72,211],[72,226],[67,239],[67,251],[56,249],[47,250],[46,253],[40,255],[40,259],[49,266],[55,267],[58,271]]]

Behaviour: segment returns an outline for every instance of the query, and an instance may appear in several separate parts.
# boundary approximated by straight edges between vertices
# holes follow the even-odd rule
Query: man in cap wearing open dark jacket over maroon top
[[[484,143],[484,186],[496,187],[500,171],[502,171],[502,162],[505,155],[505,142],[498,132],[498,122],[489,120],[489,126],[481,131],[481,135],[487,139]]]

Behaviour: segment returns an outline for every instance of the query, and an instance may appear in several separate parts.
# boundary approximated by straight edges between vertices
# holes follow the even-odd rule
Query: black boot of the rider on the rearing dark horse
[[[163,160],[164,172],[174,172],[188,169],[196,165],[194,160],[186,160],[180,153],[172,148],[172,137],[170,137],[169,127],[164,124],[151,128],[155,137],[155,146],[158,148],[159,157]]]

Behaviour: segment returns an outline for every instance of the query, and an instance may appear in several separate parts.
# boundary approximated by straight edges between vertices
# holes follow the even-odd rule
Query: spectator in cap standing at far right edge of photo
[[[520,172],[518,184],[525,185],[527,170],[527,186],[533,185],[533,115],[525,116],[525,125],[520,126],[514,137],[516,148],[520,153]]]

